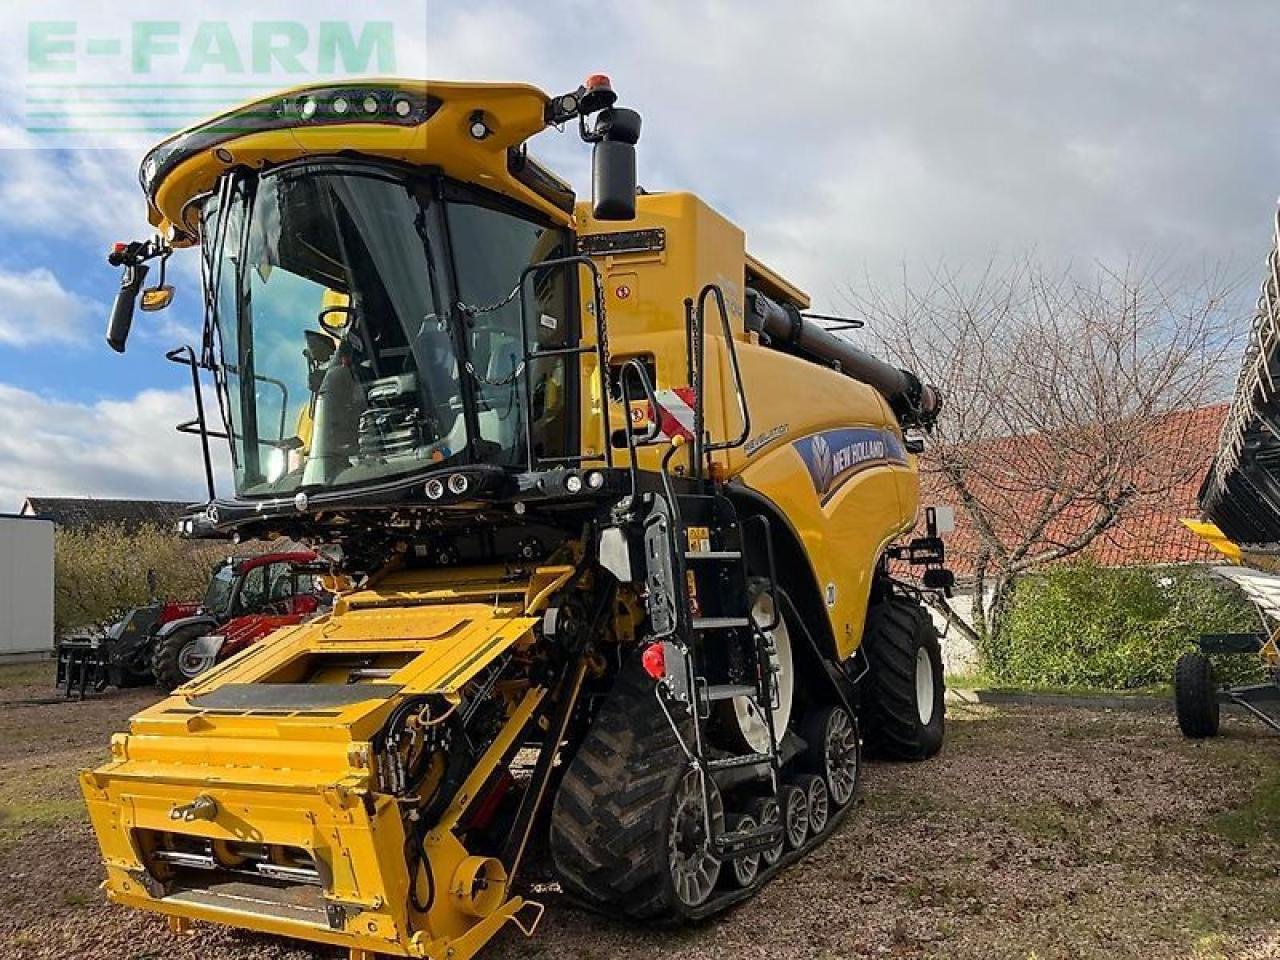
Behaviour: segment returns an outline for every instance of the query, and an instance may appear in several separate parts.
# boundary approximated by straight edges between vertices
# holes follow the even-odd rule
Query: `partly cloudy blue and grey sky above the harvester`
[[[174,306],[140,314],[119,356],[102,342],[105,253],[147,236],[137,168],[166,131],[361,56],[550,93],[608,73],[644,115],[640,182],[701,195],[818,307],[904,268],[1028,251],[1211,264],[1253,288],[1280,192],[1280,5],[1266,1],[9,0],[5,14],[0,512],[28,495],[202,495],[198,444],[172,429],[192,416],[189,375],[164,360],[198,337],[193,256],[174,257]],[[330,42],[348,56],[325,70],[338,27],[370,46]],[[531,151],[589,191],[572,131]]]

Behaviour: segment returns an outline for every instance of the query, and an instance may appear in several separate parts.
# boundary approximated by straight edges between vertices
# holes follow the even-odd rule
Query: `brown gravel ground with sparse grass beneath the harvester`
[[[106,906],[76,771],[148,701],[51,700],[0,669],[0,957],[307,960],[334,952]],[[483,956],[1280,957],[1280,737],[1228,719],[952,704],[943,755],[867,771],[840,832],[754,900],[654,931],[547,897]]]

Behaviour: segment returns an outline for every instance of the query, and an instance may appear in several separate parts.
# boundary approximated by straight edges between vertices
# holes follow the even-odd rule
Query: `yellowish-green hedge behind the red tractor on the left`
[[[227,544],[179,540],[159,526],[125,531],[118,525],[58,530],[54,535],[54,625],[104,623],[147,602],[147,571],[156,572],[161,598],[205,595],[209,573]]]

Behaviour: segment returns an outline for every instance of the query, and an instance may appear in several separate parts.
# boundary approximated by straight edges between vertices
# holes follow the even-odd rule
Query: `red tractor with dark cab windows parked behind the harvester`
[[[169,692],[279,627],[329,602],[325,567],[310,550],[232,557],[214,570],[200,609],[155,634],[151,673]]]

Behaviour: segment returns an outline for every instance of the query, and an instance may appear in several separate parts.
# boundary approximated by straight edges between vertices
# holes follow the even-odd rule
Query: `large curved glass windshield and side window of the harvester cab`
[[[381,484],[567,453],[564,230],[439,178],[300,165],[204,209],[219,398],[237,494]],[[532,403],[525,389],[531,388]],[[529,413],[532,413],[530,417]],[[526,422],[531,420],[531,422]]]

